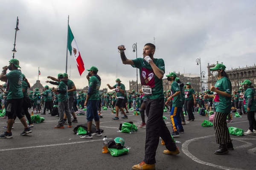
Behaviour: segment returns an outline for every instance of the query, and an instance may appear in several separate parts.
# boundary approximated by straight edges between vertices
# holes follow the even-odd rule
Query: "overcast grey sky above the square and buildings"
[[[153,43],[155,58],[163,58],[166,73],[196,73],[207,63],[223,62],[231,67],[253,65],[256,58],[255,0],[0,0],[0,63],[12,58],[16,18],[19,17],[15,58],[30,84],[38,76],[65,72],[67,17],[76,38],[85,69],[97,66],[101,89],[115,84],[117,77],[129,88],[136,69],[122,65],[117,46],[126,56],[138,58],[145,43]],[[85,70],[80,77],[68,55],[68,74],[77,88],[88,85]],[[2,67],[1,66],[1,67]],[[117,71],[116,71],[117,66]],[[140,80],[140,78],[139,78]]]

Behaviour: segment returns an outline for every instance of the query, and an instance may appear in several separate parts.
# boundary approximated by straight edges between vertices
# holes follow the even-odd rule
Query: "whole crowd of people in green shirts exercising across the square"
[[[245,134],[253,135],[256,133],[256,92],[252,83],[245,80],[238,92],[233,92],[231,82],[225,72],[226,66],[216,64],[211,68],[213,76],[217,78],[215,86],[211,86],[209,90],[202,94],[195,92],[191,84],[187,82],[183,84],[177,77],[175,72],[166,75],[171,89],[167,92],[163,91],[163,77],[165,74],[165,63],[163,59],[154,58],[155,46],[147,43],[143,49],[143,58],[134,60],[127,59],[125,56],[125,46],[118,46],[121,61],[123,64],[131,65],[140,70],[140,81],[142,88],[139,92],[132,90],[127,92],[125,85],[121,83],[119,78],[113,86],[107,84],[112,92],[99,92],[101,86],[101,78],[98,75],[98,68],[92,66],[87,69],[87,80],[89,89],[87,92],[77,92],[73,81],[68,78],[67,73],[58,74],[57,78],[48,76],[52,81],[46,83],[57,85],[57,88],[49,88],[44,86],[45,91],[35,92],[27,91],[30,84],[26,76],[22,74],[17,59],[9,61],[9,66],[4,66],[0,75],[0,81],[6,83],[1,86],[3,90],[2,104],[6,109],[6,117],[8,118],[7,130],[0,135],[0,138],[12,138],[12,125],[15,118],[18,117],[24,125],[24,130],[20,135],[32,133],[30,127],[31,122],[29,108],[33,108],[34,112],[41,112],[42,115],[52,111],[54,105],[58,105],[58,124],[54,128],[64,128],[64,124],[72,127],[73,122],[77,122],[76,113],[79,108],[87,108],[87,133],[80,138],[93,138],[93,136],[102,136],[99,130],[99,122],[101,108],[116,111],[113,120],[119,120],[119,111],[123,114],[123,119],[128,119],[128,110],[140,111],[142,124],[139,127],[146,128],[145,140],[145,158],[140,164],[132,167],[134,170],[153,170],[155,169],[155,155],[159,138],[165,142],[167,150],[163,153],[167,155],[177,155],[180,153],[173,137],[178,137],[180,133],[184,133],[183,126],[186,125],[185,116],[188,115],[187,121],[194,121],[194,112],[196,108],[204,108],[205,110],[214,110],[215,117],[213,126],[218,150],[215,154],[226,154],[233,150],[232,140],[227,128],[227,116],[230,115],[231,107],[240,108],[244,114],[247,114],[249,120],[249,130]],[[6,74],[7,69],[10,70]],[[172,131],[166,127],[163,120],[163,109],[170,111],[170,119]],[[183,111],[184,110],[184,111]],[[242,113],[241,113],[242,114]],[[25,116],[29,123],[26,123]],[[148,117],[145,121],[145,115]],[[185,115],[185,116],[184,116]],[[73,117],[73,119],[72,119]],[[91,132],[93,119],[96,124],[96,131]]]

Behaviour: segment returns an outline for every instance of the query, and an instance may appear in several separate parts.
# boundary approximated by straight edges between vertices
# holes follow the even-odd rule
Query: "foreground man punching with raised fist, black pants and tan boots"
[[[173,142],[171,133],[163,121],[163,75],[165,64],[163,59],[154,58],[156,47],[152,43],[147,43],[143,49],[143,58],[129,60],[125,56],[125,46],[118,46],[123,64],[132,65],[140,70],[140,81],[143,93],[147,95],[145,112],[148,116],[146,126],[145,158],[140,164],[134,165],[133,170],[155,169],[155,155],[159,143],[159,137],[165,142],[167,150],[164,154],[177,155],[179,150]]]

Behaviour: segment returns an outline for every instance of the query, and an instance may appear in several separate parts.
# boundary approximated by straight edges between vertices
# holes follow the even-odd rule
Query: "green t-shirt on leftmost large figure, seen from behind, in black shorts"
[[[23,98],[22,92],[22,73],[20,70],[13,70],[6,74],[8,78],[9,90],[7,100],[14,98]]]

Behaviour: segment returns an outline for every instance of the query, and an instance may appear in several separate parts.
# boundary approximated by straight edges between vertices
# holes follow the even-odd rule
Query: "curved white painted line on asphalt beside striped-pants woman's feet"
[[[243,169],[239,169],[239,168],[231,168],[231,167],[224,167],[224,166],[220,166],[220,165],[216,165],[216,164],[211,164],[205,161],[201,161],[200,159],[198,159],[197,157],[193,156],[189,150],[188,150],[188,145],[193,142],[193,141],[197,141],[199,139],[204,139],[204,138],[209,138],[209,137],[213,137],[215,135],[209,135],[209,136],[203,136],[203,137],[199,137],[199,138],[193,138],[190,140],[185,141],[182,144],[182,151],[183,153],[185,153],[186,156],[188,156],[189,158],[191,158],[193,161],[199,163],[199,164],[204,164],[207,166],[211,166],[211,167],[215,167],[215,168],[219,168],[219,169],[223,169],[223,170],[243,170]]]

